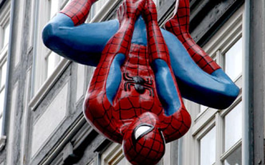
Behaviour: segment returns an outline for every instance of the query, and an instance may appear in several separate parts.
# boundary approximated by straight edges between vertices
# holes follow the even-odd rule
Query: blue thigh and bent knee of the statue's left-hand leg
[[[44,27],[45,46],[75,62],[96,66],[107,41],[119,28],[117,20],[74,26],[66,15],[58,13]]]

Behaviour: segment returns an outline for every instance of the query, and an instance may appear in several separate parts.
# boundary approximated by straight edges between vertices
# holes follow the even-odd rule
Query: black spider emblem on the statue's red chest
[[[131,86],[134,86],[136,92],[139,94],[143,94],[145,90],[149,90],[149,96],[154,97],[154,89],[151,85],[153,85],[153,81],[147,78],[144,80],[140,76],[130,76],[129,73],[123,73],[123,79],[125,80],[124,83],[124,90],[130,91]]]

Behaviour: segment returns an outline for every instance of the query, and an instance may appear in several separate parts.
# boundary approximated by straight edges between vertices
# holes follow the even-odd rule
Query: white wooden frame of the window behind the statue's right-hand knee
[[[209,40],[204,46],[204,50],[211,55],[212,58],[216,58],[217,63],[224,67],[224,55],[231,48],[239,38],[243,37],[243,14],[244,5],[239,8],[234,15],[220,28],[220,30]],[[243,46],[242,46],[243,48]],[[213,108],[206,108],[202,112],[199,112],[200,105],[198,107],[198,114],[194,118],[194,123],[191,127],[193,139],[195,139],[195,165],[199,165],[199,140],[209,132],[213,126],[216,127],[216,160],[215,165],[222,165],[223,161],[242,144],[242,137],[227,151],[224,150],[224,117],[233,108],[242,101],[242,74],[240,74],[235,80],[235,84],[240,88],[240,94],[236,98],[236,101],[225,110],[216,110]]]

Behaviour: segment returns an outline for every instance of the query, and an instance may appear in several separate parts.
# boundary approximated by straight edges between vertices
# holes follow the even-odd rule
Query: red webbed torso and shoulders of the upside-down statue
[[[189,129],[190,115],[185,108],[171,116],[165,115],[156,92],[155,76],[149,64],[146,46],[131,45],[130,53],[121,66],[123,76],[113,106],[109,103],[105,87],[113,58],[114,55],[101,58],[91,80],[84,111],[90,123],[109,139],[121,143],[126,128],[137,116],[153,112],[161,122],[160,129],[166,142],[183,136]],[[142,94],[130,85],[135,76],[143,78],[146,81],[144,85],[148,86]]]

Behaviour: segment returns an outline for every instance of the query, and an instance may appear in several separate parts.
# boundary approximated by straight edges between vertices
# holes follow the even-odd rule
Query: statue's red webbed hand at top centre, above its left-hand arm
[[[117,10],[118,20],[121,23],[125,19],[134,21],[142,13],[146,0],[124,0]]]

